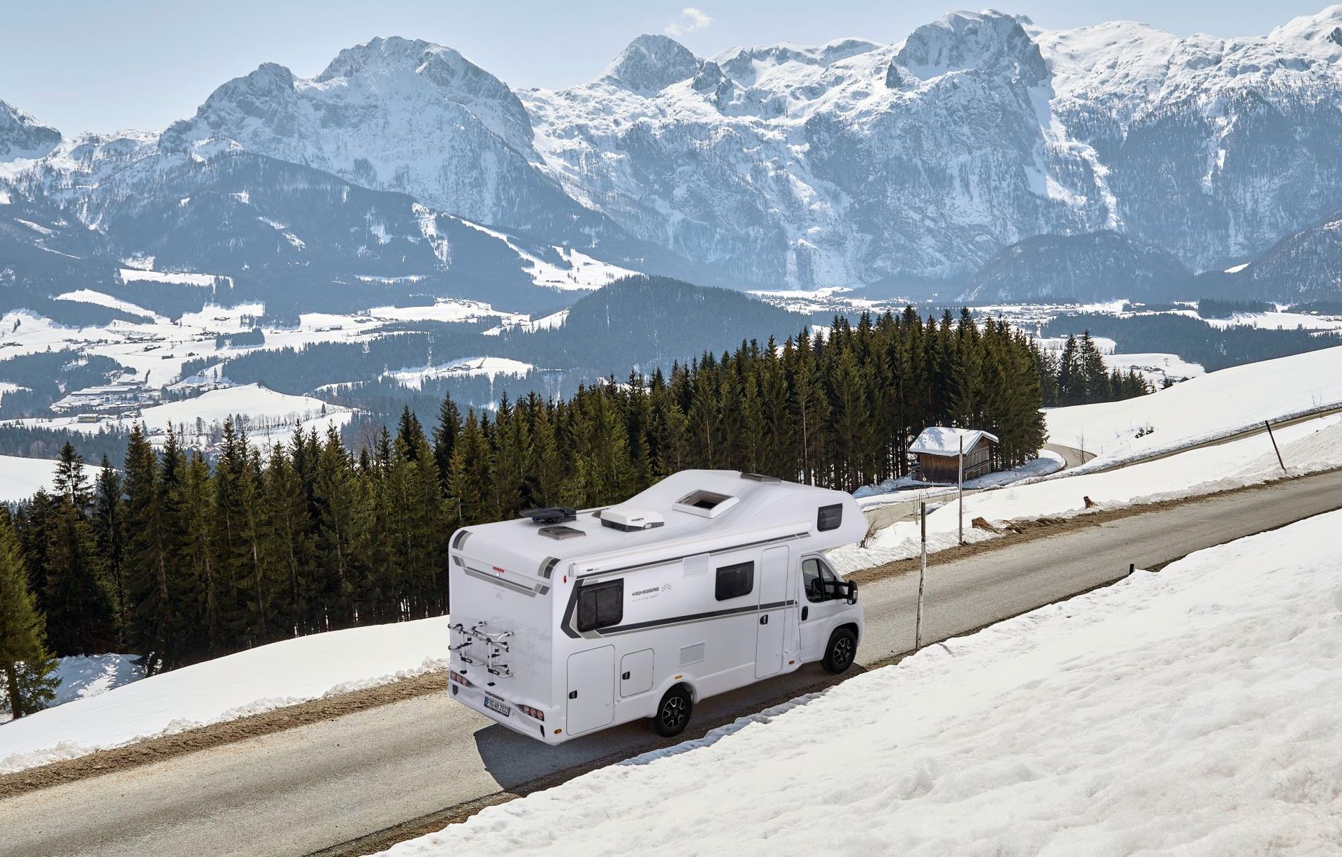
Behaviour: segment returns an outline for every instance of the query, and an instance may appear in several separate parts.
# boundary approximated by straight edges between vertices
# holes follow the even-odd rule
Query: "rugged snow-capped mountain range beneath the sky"
[[[204,233],[185,225],[189,204],[166,213],[160,186],[187,197],[196,192],[178,185],[217,173],[219,193],[267,198],[279,208],[263,217],[322,232],[319,205],[290,200],[289,211],[239,184],[270,180],[279,164],[401,194],[396,207],[423,207],[436,223],[529,236],[560,267],[580,253],[710,284],[958,294],[1004,248],[1040,235],[1115,233],[1190,271],[1221,270],[1342,200],[1342,5],[1237,39],[1130,21],[1045,31],[992,11],[946,15],[896,44],[702,58],[639,36],[592,82],[529,91],[452,48],[380,38],[314,78],[263,64],[162,134],[60,139],[0,106],[0,198],[55,205],[54,217],[115,252],[177,241],[183,267],[216,251],[192,258],[185,236]],[[161,213],[144,219],[146,207]],[[331,228],[346,215],[333,209]],[[240,229],[235,245],[256,247],[246,236],[258,223],[220,213],[211,228]],[[276,258],[301,256],[283,232],[266,236],[280,241]],[[1062,245],[1072,270],[1131,255],[1110,252],[1107,237]],[[1098,255],[1078,258],[1087,247]],[[373,276],[366,263],[380,258],[356,252],[340,275]],[[334,276],[338,259],[344,249],[306,268]],[[388,263],[397,272],[386,276],[409,264]]]

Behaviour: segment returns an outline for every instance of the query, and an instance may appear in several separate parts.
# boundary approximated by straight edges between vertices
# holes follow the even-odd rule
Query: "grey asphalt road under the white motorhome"
[[[1143,512],[927,573],[938,640],[1158,567],[1190,551],[1342,508],[1342,472]],[[917,575],[863,586],[859,663],[911,648]],[[747,713],[820,680],[819,667],[705,700],[695,719]],[[0,801],[0,854],[302,854],[538,777],[652,743],[627,724],[545,747],[446,693]]]

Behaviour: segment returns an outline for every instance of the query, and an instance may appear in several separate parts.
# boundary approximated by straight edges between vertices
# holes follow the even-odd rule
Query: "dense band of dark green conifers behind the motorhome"
[[[66,444],[52,491],[0,524],[11,704],[40,707],[52,653],[129,650],[154,673],[439,616],[456,527],[617,503],[686,468],[851,491],[906,475],[927,425],[990,431],[998,465],[1013,467],[1044,441],[1044,389],[1066,389],[1070,365],[1005,322],[909,308],[631,372],[566,400],[531,392],[463,413],[444,397],[429,428],[405,408],[395,431],[357,448],[302,426],[254,444],[229,421],[207,461],[170,432],[156,448],[137,428],[122,468],[103,459],[90,479]]]

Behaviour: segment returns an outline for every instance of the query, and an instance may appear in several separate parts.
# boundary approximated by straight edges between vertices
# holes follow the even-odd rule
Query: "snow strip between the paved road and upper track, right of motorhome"
[[[1339,414],[1279,429],[1276,441],[1292,476],[1342,467]],[[994,526],[1023,519],[1067,518],[1086,511],[1086,498],[1099,508],[1119,508],[1227,491],[1282,476],[1284,473],[1272,452],[1272,443],[1267,435],[1256,435],[1121,469],[1045,479],[969,495],[965,498],[965,540],[997,538],[993,532],[972,527],[976,518],[984,518]],[[930,553],[958,543],[960,522],[954,492],[947,492],[942,499],[949,502],[927,514]],[[829,557],[841,571],[856,571],[917,557],[919,547],[918,522],[900,520],[879,530],[866,547],[839,547],[829,551]]]

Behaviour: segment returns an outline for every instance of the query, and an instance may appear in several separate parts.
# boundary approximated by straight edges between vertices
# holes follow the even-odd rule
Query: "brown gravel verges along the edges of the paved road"
[[[1002,527],[1001,538],[988,539],[985,542],[976,542],[972,545],[962,545],[960,547],[951,547],[947,550],[938,551],[930,557],[935,559],[929,559],[929,562],[947,562],[954,559],[962,559],[965,557],[972,557],[982,553],[989,553],[993,550],[1000,550],[1020,545],[1024,542],[1032,542],[1036,539],[1051,538],[1053,535],[1062,535],[1064,532],[1071,532],[1075,530],[1082,530],[1086,527],[1095,527],[1111,520],[1118,520],[1122,518],[1131,518],[1134,515],[1142,515],[1145,512],[1159,511],[1165,508],[1173,508],[1176,506],[1184,506],[1188,503],[1198,503],[1209,500],[1219,496],[1227,496],[1233,494],[1247,494],[1253,491],[1267,491],[1274,485],[1283,481],[1294,481],[1296,479],[1307,479],[1311,476],[1321,476],[1330,472],[1342,471],[1342,468],[1333,468],[1329,471],[1317,471],[1314,473],[1304,473],[1294,477],[1282,477],[1272,481],[1259,483],[1255,485],[1244,485],[1239,488],[1231,488],[1227,491],[1216,491],[1212,494],[1201,494],[1190,498],[1177,498],[1170,500],[1159,500],[1155,503],[1142,503],[1134,506],[1125,506],[1118,508],[1098,508],[1090,512],[1083,512],[1072,518],[1041,518],[1037,520],[1019,520],[1012,522],[1007,527]],[[918,570],[918,559],[899,559],[872,569],[864,569],[848,575],[848,579],[858,582],[859,585],[871,583],[888,577],[896,577],[900,574],[907,574],[910,571]],[[1080,593],[1074,593],[1068,597],[1075,597]],[[890,659],[888,663],[896,663],[898,657]],[[887,661],[880,661],[876,665],[884,665]],[[828,687],[832,683],[821,683],[817,687]],[[378,708],[381,705],[388,705],[392,703],[399,703],[407,699],[413,699],[417,696],[425,696],[429,693],[437,693],[447,691],[447,673],[446,671],[436,671],[416,676],[413,679],[405,679],[401,681],[392,681],[388,684],[381,684],[373,688],[365,688],[362,691],[352,691],[349,693],[338,693],[322,699],[310,700],[306,703],[299,703],[297,705],[289,705],[285,708],[276,708],[275,711],[268,711],[259,715],[251,715],[247,718],[240,718],[238,720],[228,720],[225,723],[215,723],[211,726],[203,726],[185,732],[178,732],[174,735],[165,735],[161,738],[152,738],[149,740],[137,742],[133,744],[126,744],[125,747],[115,747],[111,750],[99,750],[89,755],[83,755],[75,759],[64,759],[60,762],[52,762],[51,764],[43,764],[39,767],[31,767],[23,771],[15,771],[12,774],[0,775],[0,801],[5,798],[17,797],[21,794],[28,794],[32,791],[40,791],[43,789],[50,789],[52,786],[59,786],[63,783],[76,782],[81,779],[89,779],[93,777],[101,777],[103,774],[113,774],[118,771],[125,771],[136,767],[144,767],[153,764],[156,762],[162,762],[174,756],[185,755],[189,752],[196,752],[200,750],[209,750],[213,747],[221,747],[225,744],[232,744],[251,738],[259,738],[262,735],[270,735],[272,732],[282,732],[285,730],[298,728],[311,723],[318,723],[322,720],[334,720],[336,718],[342,718],[345,715],[356,713],[360,711],[366,711],[369,708]],[[803,691],[812,692],[812,691]],[[793,699],[800,693],[789,693],[788,699]],[[788,699],[781,699],[778,703],[788,701]],[[735,718],[731,718],[733,720]],[[730,722],[725,720],[723,723]],[[722,723],[713,723],[705,726],[702,732],[707,732]],[[702,734],[698,732],[696,734]],[[683,738],[679,740],[684,740]],[[668,742],[670,744],[679,743],[679,740]],[[576,771],[562,773],[562,779],[570,779],[572,777],[581,774],[584,770],[590,770],[592,767],[599,767],[601,764],[608,764],[616,759],[603,759],[599,763],[592,763],[590,766],[584,766]],[[554,778],[561,777],[560,774]],[[556,779],[556,782],[562,782],[562,779]],[[554,783],[550,783],[554,785]],[[443,823],[433,830],[437,830],[447,823],[456,821],[458,810],[464,813],[462,817],[468,817],[479,809],[488,806],[490,802],[502,803],[505,801],[517,797],[517,794],[526,794],[530,791],[537,791],[539,789],[546,789],[549,785],[527,786],[526,789],[515,789],[510,793],[497,793],[497,795],[486,795],[475,802],[475,809],[466,811],[464,807],[471,806],[462,805],[462,807],[448,807],[440,813],[435,813],[432,817],[443,818]],[[491,801],[497,797],[498,799]],[[425,817],[428,818],[428,817]],[[413,819],[416,823],[420,819]],[[397,830],[397,827],[388,829]],[[424,830],[428,832],[428,830]],[[372,834],[380,836],[380,834]],[[404,838],[404,837],[403,837]],[[391,842],[400,840],[389,840]],[[337,846],[344,848],[344,846]],[[326,852],[318,852],[326,853]],[[356,853],[356,852],[337,852],[330,853]]]

